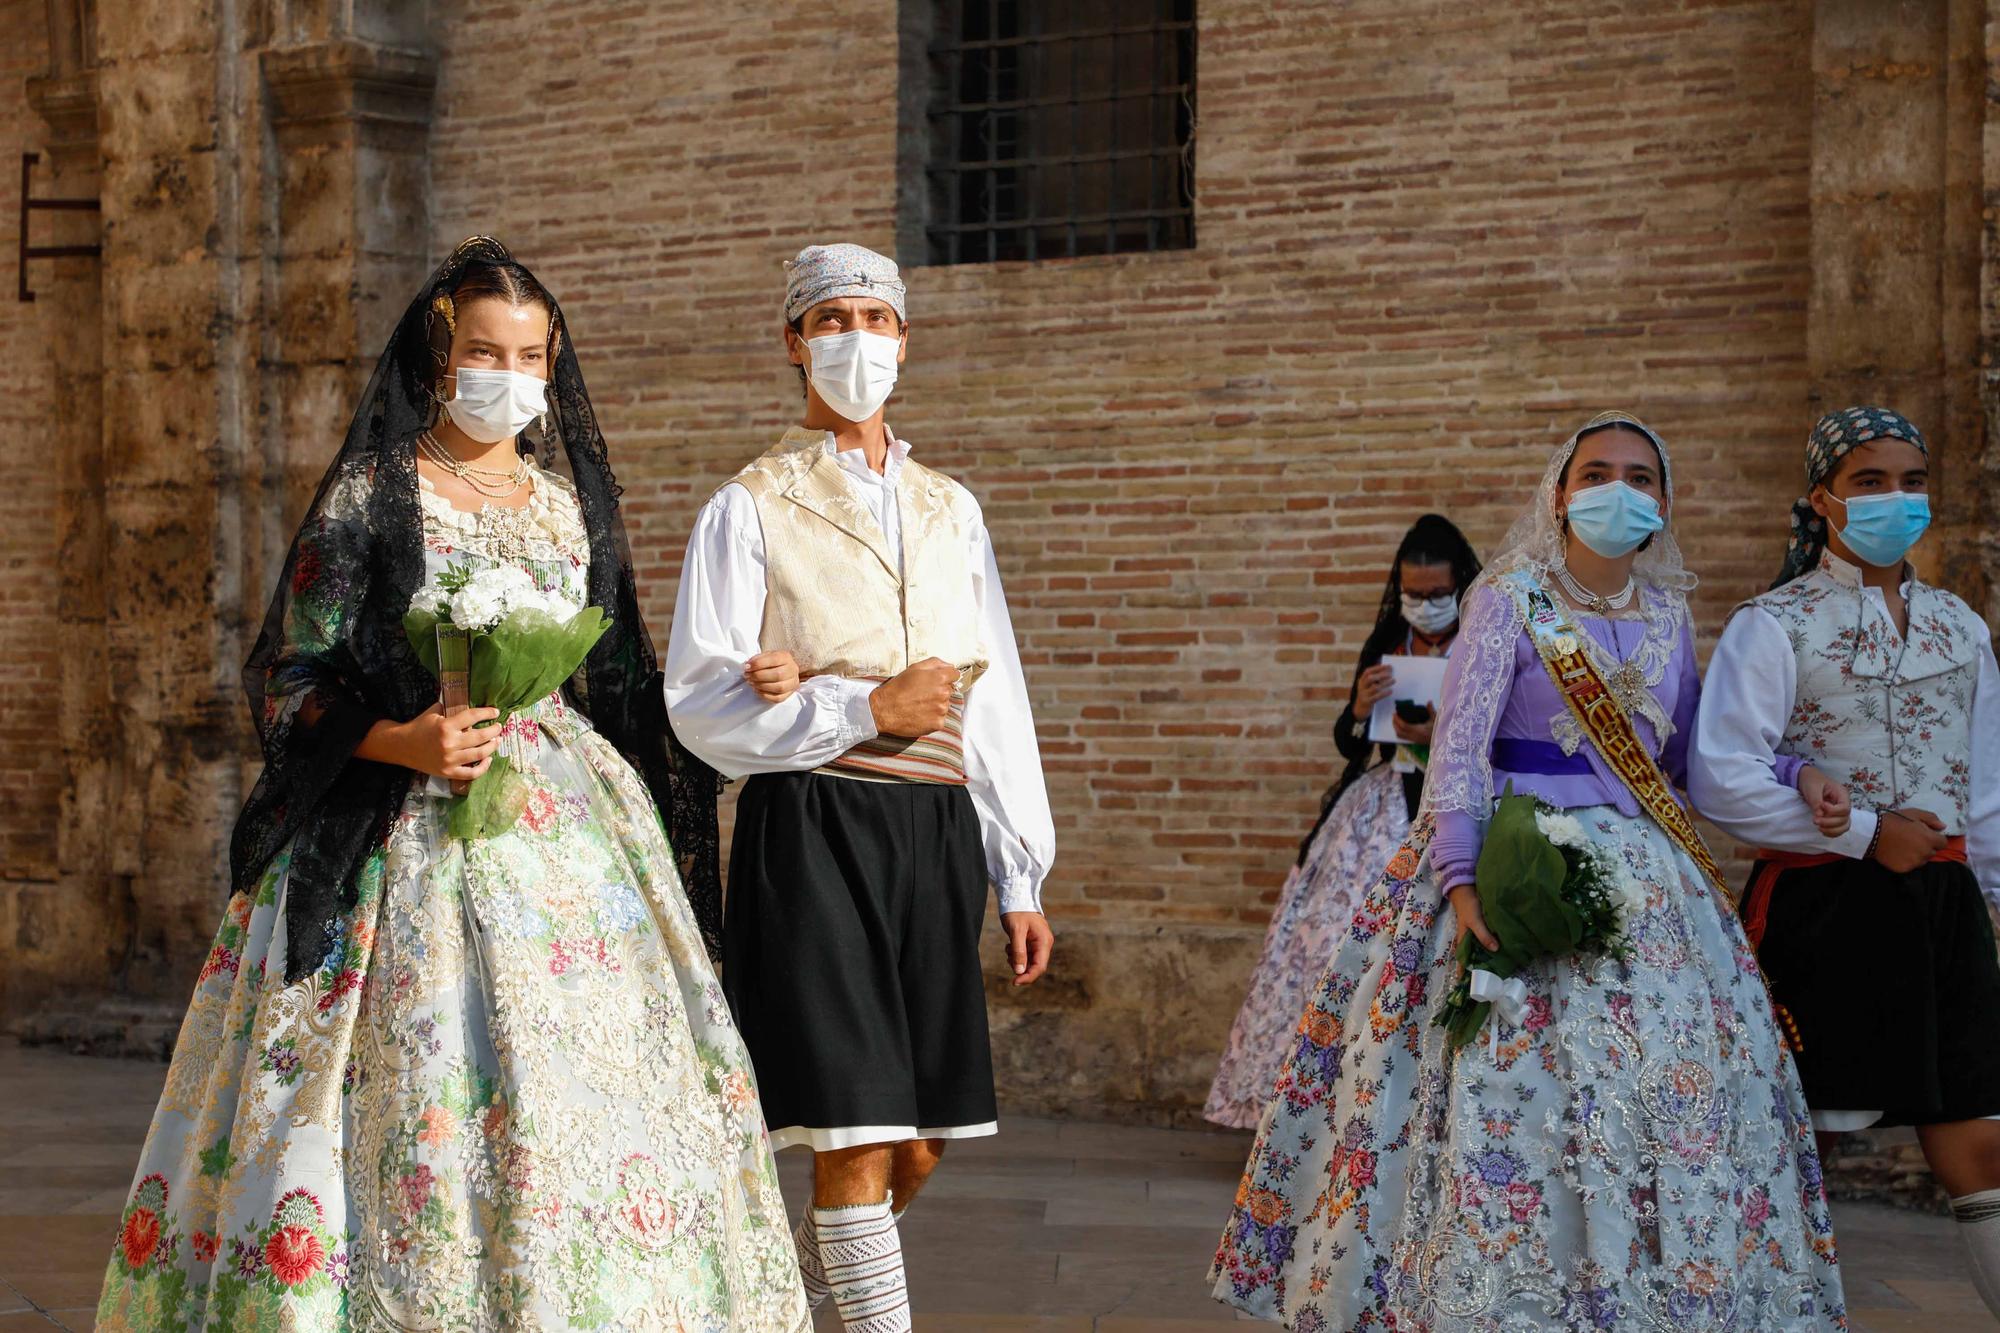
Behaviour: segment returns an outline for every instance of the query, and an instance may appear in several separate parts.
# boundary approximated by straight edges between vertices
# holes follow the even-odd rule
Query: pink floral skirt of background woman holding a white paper
[[[1216,1081],[1202,1115],[1216,1125],[1254,1129],[1292,1049],[1298,1011],[1334,949],[1346,939],[1360,893],[1382,875],[1410,833],[1402,775],[1376,765],[1340,793],[1340,803],[1312,835],[1306,859],[1292,867],[1264,933]]]

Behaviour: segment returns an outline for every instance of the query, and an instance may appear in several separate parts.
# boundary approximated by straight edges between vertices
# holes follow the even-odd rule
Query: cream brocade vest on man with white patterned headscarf
[[[788,650],[802,673],[876,679],[936,656],[972,689],[988,656],[972,602],[978,506],[964,486],[902,460],[896,568],[882,524],[826,452],[824,430],[786,430],[734,480],[764,526],[762,650]]]

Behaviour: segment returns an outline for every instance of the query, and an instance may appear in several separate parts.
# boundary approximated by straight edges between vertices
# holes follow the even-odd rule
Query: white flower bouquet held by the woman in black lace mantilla
[[[448,675],[440,662],[464,662],[466,703],[498,709],[500,717],[486,725],[504,727],[576,675],[610,622],[596,606],[544,592],[528,570],[452,564],[410,598],[402,628],[434,677]],[[520,819],[526,797],[508,757],[496,755],[454,803],[448,829],[460,839],[504,833]]]

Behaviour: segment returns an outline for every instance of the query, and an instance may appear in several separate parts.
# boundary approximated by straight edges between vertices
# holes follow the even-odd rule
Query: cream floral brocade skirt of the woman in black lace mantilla
[[[288,859],[230,901],[100,1329],[810,1327],[654,807],[574,715],[550,723],[494,839],[446,839],[412,785],[302,981]]]

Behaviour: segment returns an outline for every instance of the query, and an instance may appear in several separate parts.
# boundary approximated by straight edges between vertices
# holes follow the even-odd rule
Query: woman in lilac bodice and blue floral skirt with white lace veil
[[[1606,414],[1466,596],[1424,809],[1306,1005],[1212,1279],[1302,1333],[1844,1327],[1812,1123],[1756,961],[1530,636],[1558,606],[1680,785],[1698,675],[1666,448]],[[1512,785],[1644,889],[1628,961],[1520,973],[1460,1051],[1432,1023]]]

